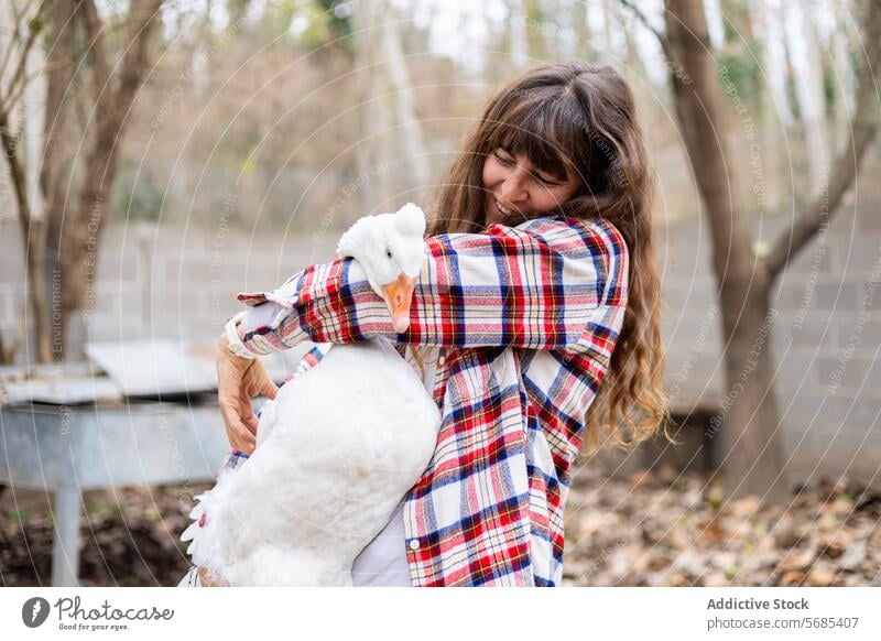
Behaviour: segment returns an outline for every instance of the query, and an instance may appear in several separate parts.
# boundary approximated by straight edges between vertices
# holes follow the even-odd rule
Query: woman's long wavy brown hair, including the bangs
[[[585,446],[630,446],[664,427],[661,283],[652,229],[653,177],[633,94],[610,66],[580,61],[542,64],[502,87],[468,134],[434,197],[429,235],[486,228],[485,160],[500,148],[563,181],[578,176],[558,211],[602,217],[630,254],[629,296],[609,370],[590,405]],[[543,213],[546,215],[548,213]]]

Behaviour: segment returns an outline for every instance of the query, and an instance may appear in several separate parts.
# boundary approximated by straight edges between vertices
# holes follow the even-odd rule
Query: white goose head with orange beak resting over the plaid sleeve
[[[410,327],[410,305],[425,258],[424,236],[425,214],[407,203],[394,214],[361,218],[337,245],[339,258],[352,258],[363,268],[399,334]]]

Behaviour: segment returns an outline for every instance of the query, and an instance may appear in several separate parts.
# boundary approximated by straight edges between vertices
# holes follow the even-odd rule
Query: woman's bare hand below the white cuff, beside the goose
[[[229,350],[226,335],[217,347],[217,395],[229,444],[244,454],[257,445],[257,415],[251,399],[274,399],[279,388],[269,378],[259,359],[249,360]]]

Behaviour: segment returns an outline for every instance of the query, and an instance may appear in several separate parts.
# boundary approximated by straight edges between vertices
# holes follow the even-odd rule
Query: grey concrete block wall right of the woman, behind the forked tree
[[[753,237],[770,245],[788,222],[755,220]],[[703,221],[670,227],[661,248],[667,381],[682,401],[708,404],[726,393],[710,261]],[[845,475],[881,488],[881,204],[845,207],[788,265],[772,306],[790,478]]]

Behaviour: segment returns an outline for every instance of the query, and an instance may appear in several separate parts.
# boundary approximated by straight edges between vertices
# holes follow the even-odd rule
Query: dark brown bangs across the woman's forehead
[[[493,149],[523,154],[534,167],[562,182],[578,175],[576,159],[587,153],[587,137],[583,119],[567,108],[565,98],[555,96],[526,102],[510,109],[508,115],[491,137]]]

